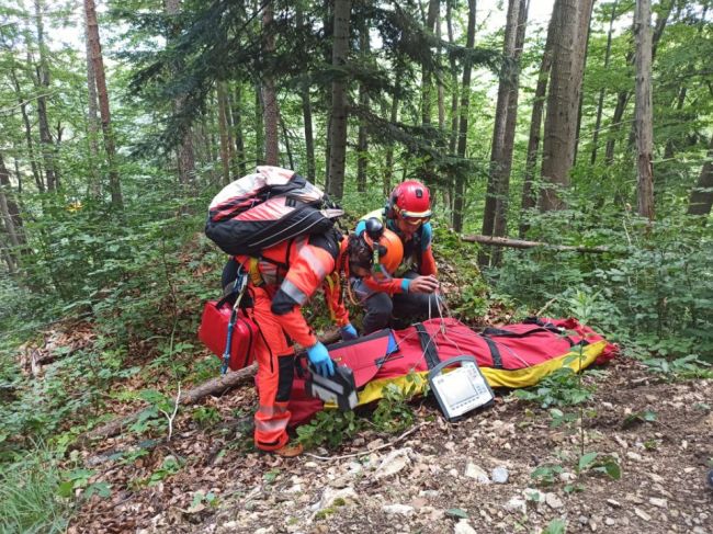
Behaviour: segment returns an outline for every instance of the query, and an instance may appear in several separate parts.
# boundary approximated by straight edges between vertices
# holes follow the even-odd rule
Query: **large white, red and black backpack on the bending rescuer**
[[[342,209],[296,172],[263,166],[215,195],[205,235],[230,255],[260,255],[287,239],[324,234],[341,215]]]

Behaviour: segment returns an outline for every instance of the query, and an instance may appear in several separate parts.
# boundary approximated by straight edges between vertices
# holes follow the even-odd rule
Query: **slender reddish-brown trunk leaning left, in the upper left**
[[[104,135],[104,150],[109,163],[109,190],[112,196],[112,207],[115,211],[124,208],[122,197],[122,185],[116,170],[116,150],[114,148],[114,134],[112,132],[112,118],[109,110],[109,93],[106,92],[106,79],[104,77],[104,60],[99,41],[99,25],[97,24],[97,10],[94,0],[84,0],[84,14],[87,20],[87,35],[91,48],[94,79],[97,80],[97,96],[99,99],[99,112],[102,120],[102,133]]]

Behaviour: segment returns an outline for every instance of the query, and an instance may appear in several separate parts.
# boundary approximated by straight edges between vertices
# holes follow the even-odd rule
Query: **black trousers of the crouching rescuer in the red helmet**
[[[419,276],[414,271],[407,272],[405,279]],[[440,298],[435,294],[399,293],[393,297],[386,293],[373,292],[360,279],[352,279],[352,291],[364,307],[362,321],[363,333],[372,333],[383,328],[405,328],[411,322],[438,317]],[[430,308],[429,308],[430,306]]]

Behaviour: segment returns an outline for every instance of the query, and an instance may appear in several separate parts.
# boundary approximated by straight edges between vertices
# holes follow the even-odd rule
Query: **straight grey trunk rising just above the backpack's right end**
[[[351,0],[335,0],[335,32],[331,63],[331,148],[329,150],[329,195],[341,198],[344,192],[347,161],[347,80],[338,71],[349,57],[349,19]]]

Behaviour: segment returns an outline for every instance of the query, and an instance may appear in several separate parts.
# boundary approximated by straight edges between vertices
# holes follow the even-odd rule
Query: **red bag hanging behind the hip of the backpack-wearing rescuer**
[[[225,303],[218,307],[218,300],[208,300],[203,307],[203,317],[199,327],[199,339],[213,354],[223,360],[225,344],[228,340],[228,323],[233,307]],[[258,327],[241,309],[233,327],[233,342],[230,343],[230,371],[247,367],[254,360],[252,346],[258,336]]]

